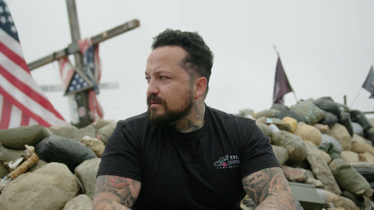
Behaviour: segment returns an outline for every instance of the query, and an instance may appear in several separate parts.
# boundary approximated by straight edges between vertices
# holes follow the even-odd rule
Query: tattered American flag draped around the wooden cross
[[[103,118],[104,111],[99,104],[96,94],[99,93],[99,79],[101,76],[101,65],[99,60],[99,47],[92,45],[89,38],[78,41],[80,52],[83,56],[83,73],[74,70],[67,57],[59,59],[59,68],[65,95],[77,93],[90,89],[88,95],[88,108],[92,114],[93,121]]]

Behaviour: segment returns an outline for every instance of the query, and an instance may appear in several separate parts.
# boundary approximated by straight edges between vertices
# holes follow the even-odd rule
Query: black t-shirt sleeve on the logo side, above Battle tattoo
[[[242,158],[240,160],[241,178],[269,167],[281,167],[277,160],[269,138],[255,124],[248,121],[248,131],[242,142]]]

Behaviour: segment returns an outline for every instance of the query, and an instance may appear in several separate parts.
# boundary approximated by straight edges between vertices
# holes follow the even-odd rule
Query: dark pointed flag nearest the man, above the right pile
[[[278,56],[277,68],[275,70],[273,104],[284,104],[283,96],[289,92],[292,92],[292,87],[288,82],[281,59]]]

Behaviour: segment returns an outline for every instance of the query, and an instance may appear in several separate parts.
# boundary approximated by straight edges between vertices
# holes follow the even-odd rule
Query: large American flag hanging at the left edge
[[[30,74],[9,7],[0,0],[0,129],[67,122]]]

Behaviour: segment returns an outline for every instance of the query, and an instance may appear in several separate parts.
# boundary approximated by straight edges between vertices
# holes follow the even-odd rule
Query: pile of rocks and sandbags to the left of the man
[[[91,210],[100,157],[116,124],[0,130],[0,209]]]

